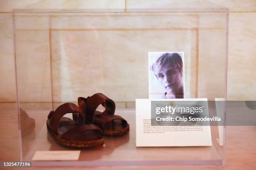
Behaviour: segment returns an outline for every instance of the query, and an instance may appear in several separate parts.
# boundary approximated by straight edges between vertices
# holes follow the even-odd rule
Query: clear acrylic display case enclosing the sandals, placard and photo
[[[124,9],[13,10],[21,160],[31,161],[37,150],[77,150],[47,133],[47,115],[102,92],[130,133],[82,149],[79,161],[33,166],[224,165],[225,125],[211,126],[210,147],[136,148],[135,99],[148,98],[148,52],[182,51],[186,97],[208,98],[216,115],[214,100],[227,92],[228,9],[206,1],[134,2],[126,0]]]

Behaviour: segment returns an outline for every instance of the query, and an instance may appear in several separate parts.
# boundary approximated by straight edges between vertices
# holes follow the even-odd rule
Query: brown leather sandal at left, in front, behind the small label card
[[[67,113],[76,114],[76,121],[62,117]],[[46,125],[49,133],[61,145],[79,148],[103,145],[102,130],[97,125],[84,125],[84,121],[85,116],[79,106],[64,103],[49,113]]]

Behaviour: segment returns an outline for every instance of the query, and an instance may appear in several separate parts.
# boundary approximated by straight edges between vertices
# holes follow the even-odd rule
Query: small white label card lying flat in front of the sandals
[[[78,160],[80,150],[38,150],[32,160]]]

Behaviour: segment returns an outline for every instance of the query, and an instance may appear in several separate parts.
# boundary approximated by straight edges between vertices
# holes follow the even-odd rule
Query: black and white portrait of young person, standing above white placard
[[[148,52],[150,99],[184,98],[184,52]]]

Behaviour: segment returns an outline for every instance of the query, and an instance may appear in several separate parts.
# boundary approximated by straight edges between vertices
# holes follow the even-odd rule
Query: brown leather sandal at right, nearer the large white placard
[[[96,110],[100,104],[105,107],[103,112]],[[127,121],[119,115],[114,115],[115,102],[102,93],[87,98],[78,97],[78,105],[86,115],[85,124],[93,122],[98,125],[103,130],[103,135],[120,136],[130,131]]]

